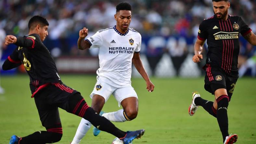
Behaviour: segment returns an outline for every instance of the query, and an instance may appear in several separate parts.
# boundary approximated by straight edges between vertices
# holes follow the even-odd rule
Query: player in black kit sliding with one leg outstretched
[[[48,35],[48,22],[41,16],[29,20],[29,34],[24,37],[7,35],[5,44],[14,43],[17,48],[6,59],[3,70],[23,65],[30,77],[30,89],[42,125],[46,131],[37,131],[26,137],[13,135],[10,144],[45,144],[58,142],[62,137],[62,126],[58,107],[89,120],[98,129],[120,138],[124,144],[139,138],[145,130],[124,132],[105,117],[99,116],[87,105],[80,92],[61,82],[55,62],[43,44]]]

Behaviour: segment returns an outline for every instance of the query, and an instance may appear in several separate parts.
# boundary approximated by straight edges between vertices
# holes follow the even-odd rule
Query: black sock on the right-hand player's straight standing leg
[[[223,142],[225,141],[226,136],[228,136],[228,116],[227,116],[227,107],[229,98],[227,95],[220,96],[217,100],[217,120],[220,126],[220,130],[223,137]]]

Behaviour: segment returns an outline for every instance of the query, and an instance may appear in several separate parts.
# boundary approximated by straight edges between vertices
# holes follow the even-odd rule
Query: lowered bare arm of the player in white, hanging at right
[[[154,84],[150,81],[148,75],[147,75],[147,72],[142,64],[142,61],[140,59],[140,54],[139,53],[134,53],[133,55],[133,59],[132,59],[132,62],[135,66],[135,68],[137,69],[137,71],[140,73],[140,75],[145,79],[146,81],[146,89],[149,91],[149,92],[152,92],[155,88]]]

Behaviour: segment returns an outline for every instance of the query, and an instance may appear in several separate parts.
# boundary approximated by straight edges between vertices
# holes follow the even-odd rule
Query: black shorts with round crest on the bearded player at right
[[[236,86],[238,75],[229,75],[223,72],[222,69],[211,67],[210,64],[206,64],[204,78],[204,89],[214,94],[215,90],[226,89],[229,97],[229,101]]]

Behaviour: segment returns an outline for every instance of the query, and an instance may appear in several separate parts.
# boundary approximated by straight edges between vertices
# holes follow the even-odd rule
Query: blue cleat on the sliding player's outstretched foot
[[[145,133],[144,129],[136,130],[136,131],[127,131],[126,135],[123,138],[120,138],[120,140],[122,140],[124,144],[129,144],[135,138],[141,138],[141,136],[143,136],[144,133]]]

